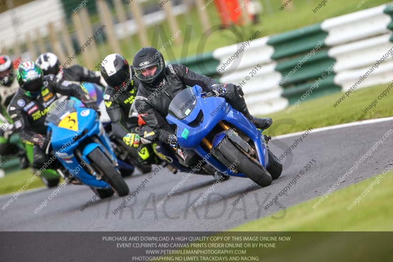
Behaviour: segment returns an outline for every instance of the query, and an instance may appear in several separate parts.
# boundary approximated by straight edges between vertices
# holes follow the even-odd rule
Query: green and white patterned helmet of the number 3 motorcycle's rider
[[[19,65],[16,73],[19,86],[28,94],[38,93],[44,84],[44,74],[33,61],[26,61]]]

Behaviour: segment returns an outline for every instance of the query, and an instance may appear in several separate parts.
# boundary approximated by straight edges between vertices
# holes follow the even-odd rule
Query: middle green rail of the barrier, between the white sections
[[[328,56],[327,51],[319,51],[316,52],[313,56],[308,58],[306,62],[300,64],[300,68],[295,68],[299,61],[304,59],[305,56],[299,56],[297,58],[289,59],[283,62],[279,62],[275,68],[276,71],[279,71],[282,74],[283,80],[281,83],[282,87],[287,87],[289,85],[302,83],[310,79],[316,79],[321,77],[323,73],[328,74],[327,69],[331,67],[336,59],[330,58]],[[297,69],[296,72],[290,74],[293,69]],[[335,74],[330,70],[330,74]],[[287,80],[285,77],[290,75]]]

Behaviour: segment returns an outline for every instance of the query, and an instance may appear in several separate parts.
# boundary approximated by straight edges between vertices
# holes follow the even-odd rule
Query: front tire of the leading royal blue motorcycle
[[[247,157],[241,149],[237,148],[230,141],[221,144],[219,151],[229,163],[240,162],[236,168],[259,186],[264,187],[272,183],[273,179],[269,172],[261,164],[255,163]]]

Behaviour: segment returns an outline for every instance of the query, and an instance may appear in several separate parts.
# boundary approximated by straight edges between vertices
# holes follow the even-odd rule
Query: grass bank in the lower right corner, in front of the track
[[[276,219],[265,217],[196,240],[168,257],[183,257],[182,261],[205,261],[190,260],[194,254],[221,258],[215,261],[391,261],[392,175],[388,172],[338,189],[317,208],[313,206],[321,196],[287,208],[285,216],[279,211],[272,214]]]

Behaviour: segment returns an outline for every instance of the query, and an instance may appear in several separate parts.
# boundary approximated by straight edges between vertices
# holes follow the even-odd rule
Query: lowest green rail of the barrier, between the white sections
[[[312,90],[310,88],[315,83],[316,79],[302,85],[286,88],[283,90],[281,96],[287,98],[289,104],[293,104],[298,99],[301,99],[300,97],[309,89],[310,92],[312,91],[312,93],[310,93],[310,95],[305,97],[305,99],[302,101],[305,101],[309,98],[317,98],[319,96],[327,95],[334,92],[339,92],[341,91],[341,87],[335,84],[334,77],[335,77],[334,75],[328,75],[326,78],[322,79],[318,87],[315,87]]]

